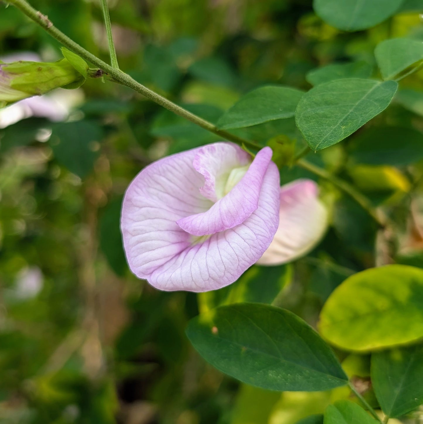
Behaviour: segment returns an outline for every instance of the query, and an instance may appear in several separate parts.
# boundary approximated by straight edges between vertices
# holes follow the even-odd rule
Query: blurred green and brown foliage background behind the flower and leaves
[[[98,1],[30,3],[108,61]],[[377,76],[378,42],[423,40],[418,1],[357,33],[323,23],[311,3],[111,0],[109,7],[120,67],[212,122],[262,84],[310,89],[307,73],[333,61],[363,61]],[[0,59],[60,59],[54,39],[6,6],[0,1]],[[416,73],[401,83],[402,95],[366,128],[423,131],[422,78]],[[408,137],[404,131],[397,136]],[[305,145],[293,118],[234,132],[263,145]],[[242,284],[258,297],[268,285],[276,293],[284,288],[279,304],[315,324],[343,279],[392,259],[389,237],[332,185],[319,181],[331,211],[326,236],[294,264],[253,267],[229,289],[198,297],[159,292],[128,270],[119,231],[127,185],[150,162],[213,141],[215,135],[108,81],[88,80],[0,110],[0,423],[295,424],[344,396],[339,391],[346,389],[281,394],[241,385],[207,365],[184,335],[199,311],[242,296]],[[423,165],[369,163],[363,145],[356,134],[307,159],[389,209],[398,223],[396,261],[423,266]],[[299,177],[316,180],[295,166],[281,169],[282,183]],[[374,403],[368,358],[343,359]]]

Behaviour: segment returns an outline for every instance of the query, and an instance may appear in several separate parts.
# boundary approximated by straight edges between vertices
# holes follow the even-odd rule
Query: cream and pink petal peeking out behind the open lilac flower
[[[257,264],[279,265],[304,256],[323,237],[327,221],[327,210],[314,181],[297,180],[282,186],[279,227]]]

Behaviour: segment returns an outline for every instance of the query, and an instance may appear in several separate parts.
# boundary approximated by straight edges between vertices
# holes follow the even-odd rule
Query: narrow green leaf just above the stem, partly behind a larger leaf
[[[218,120],[221,129],[250,127],[275,119],[290,118],[304,92],[289,87],[265,86],[242,96]]]

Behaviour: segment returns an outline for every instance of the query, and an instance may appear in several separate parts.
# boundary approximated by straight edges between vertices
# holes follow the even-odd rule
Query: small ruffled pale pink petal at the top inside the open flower
[[[200,148],[193,165],[205,179],[204,187],[200,188],[201,194],[216,202],[224,196],[225,181],[229,177],[230,170],[250,162],[251,156],[232,143],[220,142]]]

